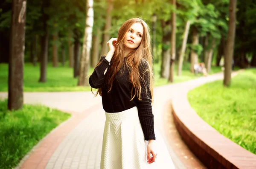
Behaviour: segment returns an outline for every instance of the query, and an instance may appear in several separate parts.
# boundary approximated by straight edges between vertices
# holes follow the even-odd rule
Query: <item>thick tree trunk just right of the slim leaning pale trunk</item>
[[[190,71],[192,73],[194,73],[194,64],[198,63],[198,54],[193,50],[193,46],[198,45],[198,39],[199,34],[198,34],[198,30],[197,28],[193,28],[192,31],[192,50],[191,50],[191,54],[190,54],[190,62],[191,62],[191,66],[190,66]]]

